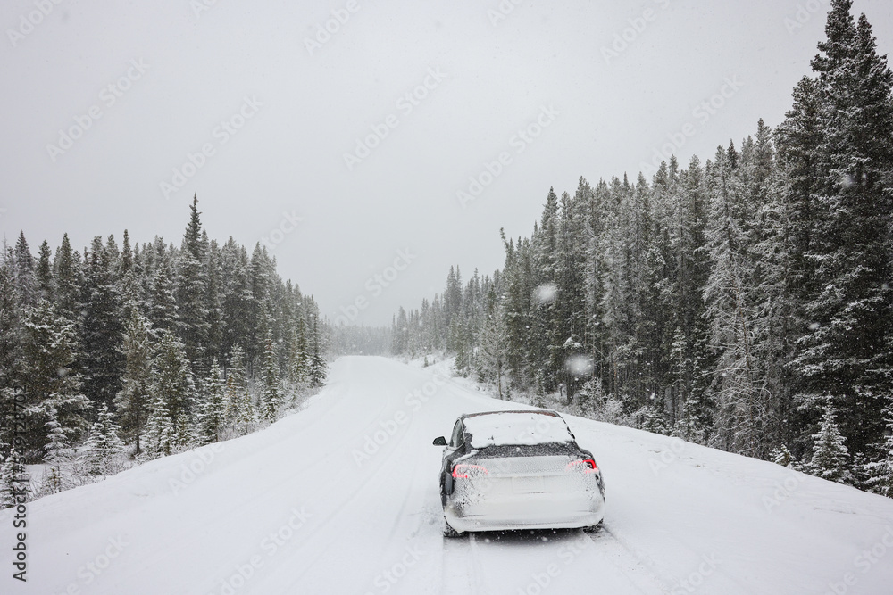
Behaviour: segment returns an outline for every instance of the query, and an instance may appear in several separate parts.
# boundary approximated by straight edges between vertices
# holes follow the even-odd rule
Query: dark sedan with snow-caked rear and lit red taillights
[[[594,529],[605,516],[605,481],[555,411],[460,416],[440,468],[443,532]]]

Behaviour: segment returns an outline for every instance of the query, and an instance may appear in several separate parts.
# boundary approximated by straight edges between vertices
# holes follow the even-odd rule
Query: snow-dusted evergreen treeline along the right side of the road
[[[503,269],[398,312],[394,351],[893,495],[893,75],[849,0],[826,30],[778,128],[550,190]]]

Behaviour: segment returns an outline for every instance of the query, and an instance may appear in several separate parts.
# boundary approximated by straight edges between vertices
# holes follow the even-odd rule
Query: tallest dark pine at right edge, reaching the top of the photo
[[[816,145],[807,147],[814,149],[803,259],[808,326],[793,364],[800,409],[815,416],[830,399],[847,443],[864,451],[883,432],[893,367],[893,73],[868,21],[856,23],[851,9],[851,0],[832,0],[808,87],[817,128]]]

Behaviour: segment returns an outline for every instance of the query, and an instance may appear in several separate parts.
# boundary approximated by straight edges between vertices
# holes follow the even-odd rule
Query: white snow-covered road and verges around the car
[[[431,440],[462,412],[521,407],[437,368],[338,359],[263,432],[30,503],[27,583],[0,513],[0,592],[893,592],[893,500],[574,417],[604,530],[445,540]]]

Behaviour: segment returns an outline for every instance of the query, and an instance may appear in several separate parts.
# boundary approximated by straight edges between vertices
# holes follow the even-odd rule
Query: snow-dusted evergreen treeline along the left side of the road
[[[255,246],[210,240],[197,198],[179,247],[68,235],[0,260],[0,454],[95,473],[125,443],[139,459],[274,420],[326,376],[319,309]],[[96,454],[99,451],[99,454]],[[81,457],[83,459],[83,457]],[[92,462],[90,462],[92,461]]]

